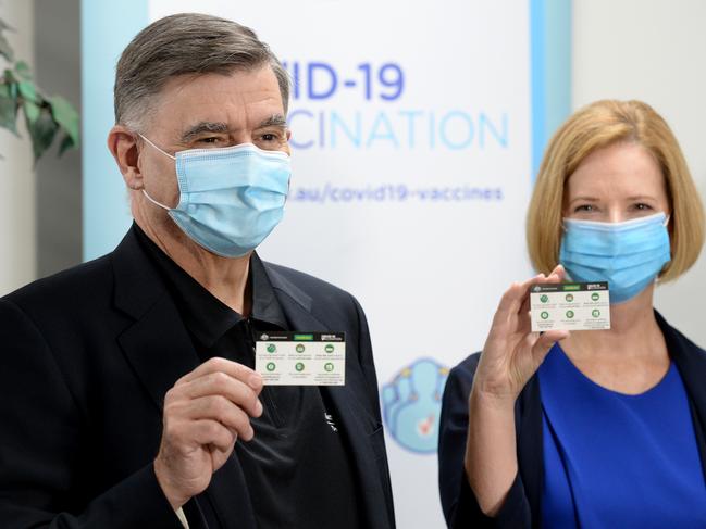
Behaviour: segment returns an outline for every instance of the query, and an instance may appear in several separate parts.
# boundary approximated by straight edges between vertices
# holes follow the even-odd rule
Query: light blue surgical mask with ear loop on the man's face
[[[141,135],[140,135],[141,136]],[[179,202],[168,207],[174,223],[197,244],[223,257],[253,250],[282,221],[289,190],[289,155],[252,143],[224,149],[189,149],[175,156]]]

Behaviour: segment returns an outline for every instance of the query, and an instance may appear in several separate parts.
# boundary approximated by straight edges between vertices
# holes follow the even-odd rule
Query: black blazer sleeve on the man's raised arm
[[[86,414],[42,333],[7,299],[0,344],[0,527],[182,529],[151,463],[83,497],[91,462]]]

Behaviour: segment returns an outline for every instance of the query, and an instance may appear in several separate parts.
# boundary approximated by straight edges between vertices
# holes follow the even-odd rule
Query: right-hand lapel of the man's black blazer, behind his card
[[[322,323],[311,313],[312,300],[298,287],[284,278],[272,267],[267,266],[268,276],[275,289],[275,294],[282,310],[292,325],[298,331],[338,331]],[[360,483],[360,501],[366,505],[368,527],[372,529],[388,529],[391,526],[385,514],[387,506],[385,493],[377,471],[375,451],[371,443],[371,436],[379,428],[373,416],[359,402],[352,388],[364,388],[364,380],[360,367],[356,364],[357,355],[348,351],[346,354],[346,385],[322,387],[323,394],[330,398],[335,408],[335,416],[339,419],[339,431],[346,437],[347,445],[352,452],[352,470]]]

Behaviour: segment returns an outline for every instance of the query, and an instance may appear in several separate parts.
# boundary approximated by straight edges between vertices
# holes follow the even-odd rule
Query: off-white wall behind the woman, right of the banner
[[[706,2],[574,0],[573,106],[596,99],[641,99],[672,127],[706,199]],[[694,295],[699,293],[701,297]],[[706,347],[706,252],[655,304]]]

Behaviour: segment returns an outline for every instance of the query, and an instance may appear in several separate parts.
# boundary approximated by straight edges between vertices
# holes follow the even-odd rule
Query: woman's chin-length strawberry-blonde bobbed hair
[[[644,147],[665,176],[671,207],[671,262],[661,280],[679,277],[698,259],[704,244],[704,207],[669,125],[641,101],[603,100],[569,117],[544,153],[527,219],[530,259],[538,272],[548,274],[559,260],[567,180],[589,154],[619,141]]]

